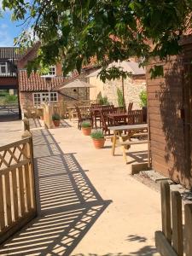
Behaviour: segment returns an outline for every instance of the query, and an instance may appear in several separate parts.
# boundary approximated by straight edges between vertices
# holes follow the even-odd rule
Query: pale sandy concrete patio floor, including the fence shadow
[[[67,121],[68,122],[68,121]],[[33,131],[38,218],[0,255],[157,256],[160,194],[130,176],[120,148],[95,149],[73,122]],[[135,145],[128,160],[147,158]]]

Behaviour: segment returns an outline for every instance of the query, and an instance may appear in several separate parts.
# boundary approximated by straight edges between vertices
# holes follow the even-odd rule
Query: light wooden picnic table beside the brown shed
[[[126,145],[130,145],[131,144],[140,144],[141,143],[147,143],[148,141],[143,140],[143,141],[138,141],[138,142],[128,142],[126,143],[126,141],[130,141],[131,137],[137,132],[137,131],[143,131],[143,130],[148,130],[148,124],[141,124],[141,125],[118,125],[118,126],[109,126],[108,130],[113,131],[113,145],[112,145],[112,155],[114,155],[114,151],[116,148],[116,143],[117,143],[117,139],[119,138],[119,143],[120,146],[122,148],[123,151],[123,156],[125,159],[125,162],[127,162],[126,160],[126,154],[125,154],[125,146]],[[122,137],[122,132],[123,131],[128,131],[128,134],[124,137]]]

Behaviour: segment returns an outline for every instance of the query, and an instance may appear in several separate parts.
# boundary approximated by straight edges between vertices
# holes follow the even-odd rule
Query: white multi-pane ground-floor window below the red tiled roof
[[[40,106],[43,102],[49,102],[49,92],[37,92],[33,93],[34,106]],[[50,102],[58,102],[58,93],[50,92]]]

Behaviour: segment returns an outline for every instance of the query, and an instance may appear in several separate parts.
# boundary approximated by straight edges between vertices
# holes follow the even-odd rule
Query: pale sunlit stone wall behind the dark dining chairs
[[[96,88],[90,88],[90,100],[96,100],[99,92],[102,96],[108,96],[108,101],[114,106],[118,106],[117,88],[122,89],[121,80],[111,80],[102,83],[99,78],[90,77],[90,84],[95,85]],[[125,104],[128,106],[129,102],[133,102],[133,109],[139,109],[140,99],[139,94],[142,90],[146,90],[145,76],[135,76],[124,81]]]

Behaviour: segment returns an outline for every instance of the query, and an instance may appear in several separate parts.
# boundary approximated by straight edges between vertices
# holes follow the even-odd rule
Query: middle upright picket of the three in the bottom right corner
[[[172,247],[183,256],[182,199],[178,191],[172,191]]]

